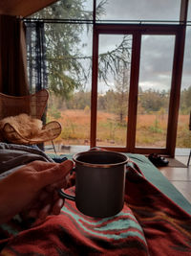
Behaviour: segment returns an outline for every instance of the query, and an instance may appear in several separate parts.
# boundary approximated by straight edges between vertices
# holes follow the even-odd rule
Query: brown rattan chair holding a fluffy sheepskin
[[[14,117],[21,113],[25,113],[34,119],[42,119],[48,99],[49,92],[46,89],[22,97],[0,93],[0,120],[3,121],[6,117]],[[61,133],[61,125],[57,121],[52,121],[44,125],[39,134],[35,134],[30,138],[23,136],[18,128],[15,128],[9,123],[6,123],[0,131],[1,141],[14,144],[34,145],[46,141],[52,141],[53,143],[53,139]],[[53,149],[55,151],[54,145]]]

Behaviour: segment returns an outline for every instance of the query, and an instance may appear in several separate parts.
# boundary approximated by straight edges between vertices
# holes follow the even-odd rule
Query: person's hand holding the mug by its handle
[[[70,160],[61,164],[33,161],[0,180],[0,222],[26,210],[41,219],[58,214],[63,199],[58,197],[57,189],[65,187],[73,165]]]

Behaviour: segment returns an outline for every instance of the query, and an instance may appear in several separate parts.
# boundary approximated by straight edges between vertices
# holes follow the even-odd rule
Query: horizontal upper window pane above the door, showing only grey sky
[[[100,6],[101,0],[97,0]],[[179,20],[180,0],[110,0],[99,20]]]

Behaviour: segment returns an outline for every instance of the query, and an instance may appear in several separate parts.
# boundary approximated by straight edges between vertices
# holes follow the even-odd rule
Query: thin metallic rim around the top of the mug
[[[123,156],[126,159],[124,159],[124,161],[121,161],[121,162],[118,162],[118,163],[113,163],[113,164],[92,164],[92,163],[87,163],[87,162],[77,160],[78,156],[80,156],[82,154],[88,154],[88,153],[91,153],[91,152],[94,152],[94,153],[110,152],[110,153],[115,153],[119,156]],[[129,162],[130,158],[129,158],[129,156],[125,155],[124,153],[121,153],[121,152],[118,152],[118,151],[81,151],[81,152],[74,153],[73,160],[76,164],[86,166],[86,167],[111,168],[111,167],[115,167],[115,166],[125,165],[126,163]]]

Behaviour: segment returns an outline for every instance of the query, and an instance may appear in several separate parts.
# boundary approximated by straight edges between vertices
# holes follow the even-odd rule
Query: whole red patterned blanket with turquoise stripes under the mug
[[[74,190],[72,188],[71,190]],[[191,255],[191,216],[129,167],[123,210],[86,217],[66,200],[62,214],[24,230],[1,226],[1,255]]]

